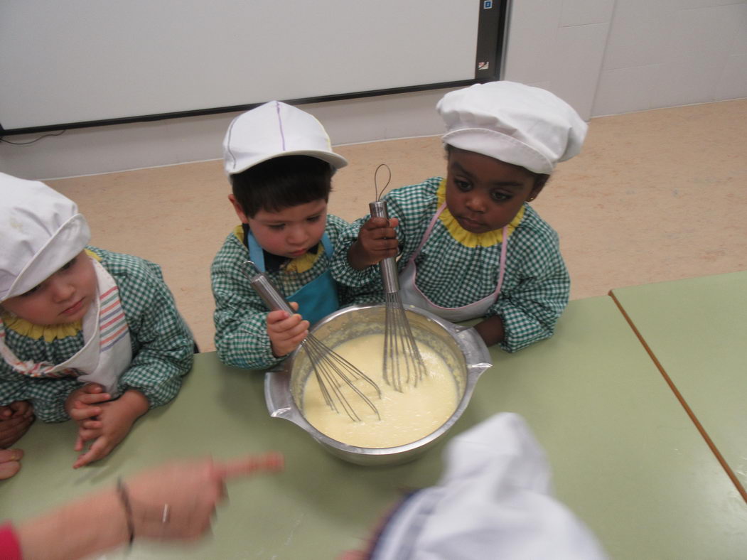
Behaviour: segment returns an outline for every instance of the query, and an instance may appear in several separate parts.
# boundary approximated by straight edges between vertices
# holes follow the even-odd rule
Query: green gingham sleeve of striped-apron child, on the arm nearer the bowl
[[[139,312],[127,318],[135,349],[118,388],[120,392],[140,391],[150,408],[164,405],[179,393],[182,376],[192,367],[192,333],[160,274],[128,277],[126,284],[120,283],[120,293],[125,311],[128,303],[132,307],[132,299],[136,299]]]

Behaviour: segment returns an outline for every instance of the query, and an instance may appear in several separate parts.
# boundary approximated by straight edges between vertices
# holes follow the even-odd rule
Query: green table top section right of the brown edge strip
[[[747,271],[613,290],[747,499]]]

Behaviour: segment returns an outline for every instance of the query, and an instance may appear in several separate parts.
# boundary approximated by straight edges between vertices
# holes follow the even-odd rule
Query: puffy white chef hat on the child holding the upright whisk
[[[554,93],[514,81],[452,91],[436,109],[447,127],[444,143],[536,173],[577,155],[588,128]]]

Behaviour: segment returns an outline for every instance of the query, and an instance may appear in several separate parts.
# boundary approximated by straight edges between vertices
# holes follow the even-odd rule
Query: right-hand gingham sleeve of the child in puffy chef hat
[[[533,243],[521,258],[521,279],[498,297],[488,316],[503,319],[505,334],[500,347],[516,352],[553,335],[560,314],[568,305],[571,281],[554,243]],[[510,251],[510,245],[509,245]]]

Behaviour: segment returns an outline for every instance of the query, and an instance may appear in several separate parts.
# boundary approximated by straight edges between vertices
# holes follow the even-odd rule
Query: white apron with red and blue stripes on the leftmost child
[[[77,376],[80,382],[99,383],[114,396],[117,379],[132,361],[130,331],[120,301],[117,282],[96,259],[91,258],[96,271],[95,305],[90,305],[83,317],[83,348],[62,364],[22,361],[5,344],[5,332],[0,336],[0,355],[18,373],[31,377]]]

